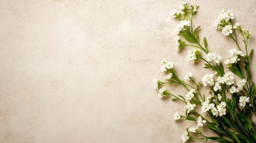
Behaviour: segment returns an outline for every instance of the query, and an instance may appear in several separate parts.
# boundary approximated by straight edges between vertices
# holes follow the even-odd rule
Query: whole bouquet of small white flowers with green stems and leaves
[[[215,20],[214,27],[221,30],[224,36],[229,36],[236,42],[237,49],[229,51],[230,56],[224,61],[230,71],[224,71],[220,54],[209,52],[207,48],[206,38],[203,38],[203,44],[199,42],[198,30],[200,26],[193,29],[192,19],[196,14],[198,5],[191,5],[189,1],[183,1],[180,10],[172,10],[171,15],[180,20],[176,27],[175,41],[176,49],[179,51],[185,46],[192,46],[187,55],[188,61],[195,63],[197,60],[205,61],[206,69],[212,69],[214,73],[208,73],[202,77],[199,83],[192,78],[192,73],[188,72],[184,79],[191,80],[190,83],[184,82],[177,76],[173,63],[162,60],[161,71],[166,72],[165,80],[161,82],[153,79],[154,88],[158,89],[160,98],[172,96],[173,101],[180,100],[186,105],[184,107],[184,115],[174,114],[174,119],[179,120],[186,118],[197,122],[196,127],[187,128],[186,132],[181,136],[181,140],[186,142],[189,139],[212,139],[218,142],[256,142],[256,126],[252,122],[251,116],[256,116],[256,99],[255,84],[251,81],[249,60],[252,51],[248,52],[248,39],[251,33],[247,29],[243,29],[240,23],[233,23],[233,13],[230,10],[222,10],[221,14]],[[237,35],[242,35],[243,46],[238,44]],[[188,45],[180,39],[182,35],[186,41],[195,43]],[[244,49],[241,49],[244,48]],[[243,52],[246,54],[243,54]],[[206,56],[202,56],[201,52],[205,52]],[[234,82],[234,74],[240,77],[240,81]],[[177,83],[188,91],[186,97],[181,95],[173,95],[169,93],[164,84]],[[206,94],[201,93],[199,85],[209,86]],[[203,114],[195,110],[196,105],[201,106],[201,113],[209,114],[209,118],[203,117]],[[201,133],[200,126],[206,125],[209,129],[216,133],[216,136],[205,136]],[[193,134],[194,133],[194,134]],[[196,134],[197,135],[196,135]],[[201,137],[195,137],[201,136]]]

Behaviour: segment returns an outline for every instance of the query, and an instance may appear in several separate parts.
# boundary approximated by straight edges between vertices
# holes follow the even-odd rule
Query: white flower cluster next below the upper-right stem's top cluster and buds
[[[240,61],[240,57],[243,57],[244,54],[241,51],[238,51],[236,49],[232,49],[229,51],[229,58],[224,61],[227,66],[232,66],[232,64],[238,63]]]

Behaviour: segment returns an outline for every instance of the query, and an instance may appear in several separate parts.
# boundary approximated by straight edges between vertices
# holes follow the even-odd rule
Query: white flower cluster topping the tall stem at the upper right
[[[233,18],[234,14],[232,13],[231,10],[221,10],[221,14],[218,15],[217,20],[215,20],[214,22],[214,27],[218,30],[221,30],[224,26],[226,26],[227,22]]]

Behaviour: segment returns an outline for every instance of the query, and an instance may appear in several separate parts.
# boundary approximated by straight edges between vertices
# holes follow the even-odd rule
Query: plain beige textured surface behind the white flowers
[[[254,47],[255,1],[192,3],[199,4],[194,26],[201,25],[211,52],[224,58],[235,48],[213,27],[222,8],[252,32]],[[173,120],[184,104],[159,99],[152,79],[165,76],[162,58],[174,62],[180,77],[192,71],[198,81],[210,70],[187,61],[189,48],[174,49],[177,20],[169,11],[179,6],[174,0],[0,1],[0,142],[180,142],[184,127],[195,124]],[[177,85],[168,91],[186,95]]]

